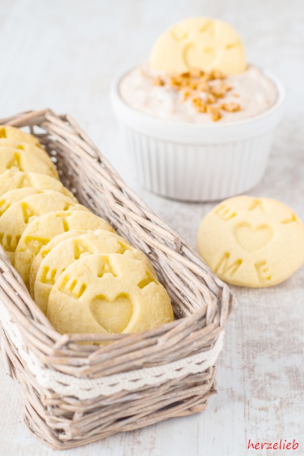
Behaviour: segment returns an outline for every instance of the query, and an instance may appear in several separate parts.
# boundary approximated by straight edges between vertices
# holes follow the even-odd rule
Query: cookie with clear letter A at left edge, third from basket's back
[[[11,171],[42,173],[55,178],[58,176],[52,162],[48,165],[30,152],[13,149],[12,147],[0,147],[0,174],[8,169]]]

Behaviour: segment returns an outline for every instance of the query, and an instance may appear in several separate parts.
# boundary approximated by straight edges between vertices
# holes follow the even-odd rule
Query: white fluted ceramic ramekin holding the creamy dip
[[[125,74],[125,73],[124,73]],[[119,84],[111,102],[138,182],[159,195],[185,201],[214,201],[247,192],[264,174],[275,128],[282,119],[285,90],[276,103],[250,119],[198,125],[166,122],[129,106]]]

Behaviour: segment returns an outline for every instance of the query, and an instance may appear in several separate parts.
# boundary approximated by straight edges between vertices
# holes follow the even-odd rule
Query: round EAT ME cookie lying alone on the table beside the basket
[[[198,249],[225,282],[268,287],[290,277],[304,261],[304,225],[283,203],[239,196],[202,220]]]

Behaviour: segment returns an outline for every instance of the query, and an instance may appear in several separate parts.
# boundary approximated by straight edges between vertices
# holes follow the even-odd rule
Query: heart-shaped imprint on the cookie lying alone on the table
[[[274,236],[272,227],[262,224],[253,227],[250,223],[239,223],[235,227],[235,237],[242,249],[247,252],[255,252],[267,245]]]

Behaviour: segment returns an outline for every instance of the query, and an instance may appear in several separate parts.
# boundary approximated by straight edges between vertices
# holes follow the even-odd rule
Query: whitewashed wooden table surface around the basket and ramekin
[[[285,120],[277,131],[267,173],[250,194],[280,199],[304,220],[302,0],[0,0],[0,117],[44,107],[70,113],[151,208],[195,246],[199,222],[212,205],[167,201],[137,188],[108,100],[113,75],[146,59],[163,29],[193,15],[219,17],[235,25],[248,61],[274,72],[286,85]],[[234,288],[239,307],[227,326],[217,363],[218,394],[203,413],[64,454],[264,454],[265,450],[247,450],[249,439],[295,439],[299,447],[292,453],[304,454],[303,284],[304,267],[270,289]],[[1,456],[57,454],[25,429],[19,386],[5,374],[2,363],[0,410]]]

